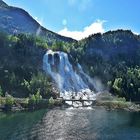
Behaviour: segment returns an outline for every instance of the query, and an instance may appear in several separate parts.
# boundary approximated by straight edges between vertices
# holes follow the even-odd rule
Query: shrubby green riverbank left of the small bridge
[[[33,111],[59,106],[62,106],[62,99],[40,99],[33,102],[29,98],[0,97],[0,112]]]

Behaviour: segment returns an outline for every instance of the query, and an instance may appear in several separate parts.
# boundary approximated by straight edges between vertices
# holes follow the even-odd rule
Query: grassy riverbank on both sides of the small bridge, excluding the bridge
[[[62,107],[62,106],[64,108],[73,107],[73,105],[64,103],[62,98],[40,99],[34,103],[30,103],[27,98],[13,98],[13,104],[9,106],[6,103],[6,98],[0,97],[0,112],[33,111],[33,110],[46,109],[46,108],[52,109],[55,107]],[[92,103],[90,107],[91,108],[103,107],[106,110],[125,110],[130,112],[140,112],[140,104],[127,102],[125,98],[118,98],[116,96],[112,96],[109,93],[97,95],[97,99]]]

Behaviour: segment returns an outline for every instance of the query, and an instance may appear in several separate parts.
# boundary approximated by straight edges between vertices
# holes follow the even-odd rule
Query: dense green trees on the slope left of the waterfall
[[[45,39],[28,35],[0,33],[0,82],[3,93],[28,97],[40,89],[43,98],[50,98],[50,80],[40,70],[48,44]]]

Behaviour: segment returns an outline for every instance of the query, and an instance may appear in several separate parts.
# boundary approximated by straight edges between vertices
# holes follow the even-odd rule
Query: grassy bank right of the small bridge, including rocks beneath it
[[[80,100],[78,102],[83,103],[83,101],[80,101]],[[136,104],[134,102],[128,102],[128,101],[125,100],[125,98],[120,98],[120,97],[117,97],[117,96],[113,96],[112,94],[110,94],[108,92],[103,92],[101,94],[98,94],[96,96],[96,100],[92,101],[91,105],[75,106],[73,103],[72,104],[66,104],[66,105],[67,105],[67,107],[73,107],[73,108],[103,107],[106,110],[124,110],[124,111],[130,111],[130,112],[140,112],[140,104]]]

